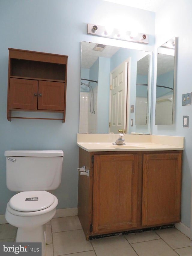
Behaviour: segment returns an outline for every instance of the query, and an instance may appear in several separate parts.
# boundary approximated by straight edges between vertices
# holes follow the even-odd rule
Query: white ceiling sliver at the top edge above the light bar
[[[127,5],[147,11],[157,12],[168,0],[103,0],[120,5]]]

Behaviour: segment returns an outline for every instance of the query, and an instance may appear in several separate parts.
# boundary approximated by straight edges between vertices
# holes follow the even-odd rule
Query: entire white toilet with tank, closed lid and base
[[[19,192],[7,203],[5,218],[17,227],[15,242],[41,242],[45,255],[43,225],[56,212],[58,199],[46,190],[61,183],[62,150],[6,150],[7,188]]]

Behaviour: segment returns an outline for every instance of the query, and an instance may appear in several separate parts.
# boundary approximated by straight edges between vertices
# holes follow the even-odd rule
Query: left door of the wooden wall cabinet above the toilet
[[[10,78],[9,108],[36,110],[38,81]]]

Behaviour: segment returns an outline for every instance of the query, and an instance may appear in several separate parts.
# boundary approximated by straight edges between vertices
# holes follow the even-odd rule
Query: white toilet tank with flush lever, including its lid
[[[6,150],[4,155],[9,190],[54,190],[60,185],[62,150]]]

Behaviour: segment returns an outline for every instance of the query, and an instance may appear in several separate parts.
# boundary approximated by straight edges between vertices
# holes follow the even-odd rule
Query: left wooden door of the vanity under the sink
[[[137,227],[138,155],[95,155],[93,234]]]

